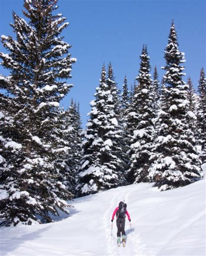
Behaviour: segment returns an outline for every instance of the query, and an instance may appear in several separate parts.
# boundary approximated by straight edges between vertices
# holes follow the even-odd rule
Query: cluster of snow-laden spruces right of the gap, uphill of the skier
[[[150,57],[143,46],[140,70],[122,94],[111,63],[103,65],[84,132],[79,195],[124,184],[155,182],[161,191],[185,186],[203,177],[206,160],[206,79],[200,72],[198,92],[188,78],[172,22],[160,84],[157,68],[151,77]]]

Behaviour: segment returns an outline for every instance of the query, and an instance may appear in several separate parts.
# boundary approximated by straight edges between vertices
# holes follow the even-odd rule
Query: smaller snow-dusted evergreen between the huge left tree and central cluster
[[[60,110],[57,123],[60,124],[59,130],[56,130],[56,145],[53,150],[58,155],[56,158],[56,169],[63,173],[63,184],[70,191],[76,189],[77,169],[80,164],[80,145],[82,143],[81,119],[79,106],[71,101],[70,107],[63,111]]]

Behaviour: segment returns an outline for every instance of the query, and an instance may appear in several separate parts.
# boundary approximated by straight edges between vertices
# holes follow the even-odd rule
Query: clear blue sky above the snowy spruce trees
[[[63,32],[77,58],[73,65],[74,87],[63,99],[63,106],[73,97],[80,102],[83,126],[90,111],[90,101],[99,85],[103,62],[112,62],[116,82],[121,87],[127,75],[129,85],[139,70],[139,55],[147,44],[152,72],[165,64],[163,55],[171,20],[174,19],[179,49],[185,52],[186,77],[197,85],[206,58],[205,0],[59,0],[69,27]],[[23,0],[0,0],[0,34],[12,35],[12,10],[23,17]],[[0,51],[5,52],[2,45]],[[0,73],[5,71],[0,68]]]

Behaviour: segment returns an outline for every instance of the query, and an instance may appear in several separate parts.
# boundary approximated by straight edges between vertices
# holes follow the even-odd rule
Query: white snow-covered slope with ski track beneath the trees
[[[201,180],[159,192],[134,184],[77,198],[70,217],[55,223],[0,229],[1,256],[205,255],[205,185]],[[126,247],[116,245],[111,215],[127,203]]]

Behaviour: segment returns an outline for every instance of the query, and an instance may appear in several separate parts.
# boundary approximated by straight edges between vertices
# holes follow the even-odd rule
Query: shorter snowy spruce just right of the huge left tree
[[[66,189],[75,191],[76,188],[76,169],[79,164],[80,143],[76,141],[76,123],[73,122],[73,112],[70,109],[74,108],[73,103],[69,109],[64,111],[59,109],[56,116],[57,127],[53,132],[53,151],[56,154],[55,167],[60,172],[62,180],[60,180]],[[80,139],[80,132],[78,140]],[[77,160],[78,158],[78,160]]]

